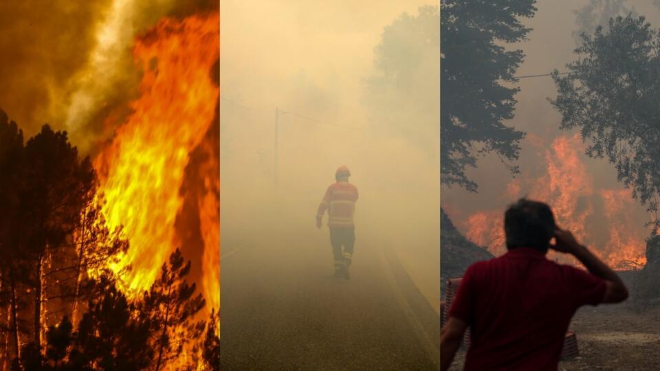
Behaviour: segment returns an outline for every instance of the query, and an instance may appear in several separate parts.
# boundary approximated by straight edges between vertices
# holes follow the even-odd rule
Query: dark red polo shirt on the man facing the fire
[[[605,286],[534,249],[474,263],[449,313],[470,326],[465,370],[557,370],[573,313],[602,302]]]

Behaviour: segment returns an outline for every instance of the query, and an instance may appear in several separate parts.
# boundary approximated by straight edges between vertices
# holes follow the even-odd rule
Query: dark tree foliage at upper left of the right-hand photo
[[[535,0],[441,0],[441,181],[476,192],[465,175],[476,157],[494,153],[514,174],[524,133],[505,126],[514,117],[514,73],[521,50],[503,43],[525,40],[520,19],[536,12]]]

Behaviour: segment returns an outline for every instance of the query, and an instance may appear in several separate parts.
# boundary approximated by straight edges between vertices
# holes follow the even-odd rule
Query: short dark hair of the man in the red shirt
[[[520,199],[504,214],[507,249],[531,247],[547,251],[555,234],[555,217],[548,205]]]

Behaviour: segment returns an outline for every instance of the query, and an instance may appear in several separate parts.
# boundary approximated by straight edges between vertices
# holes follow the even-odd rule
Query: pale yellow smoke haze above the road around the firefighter
[[[267,261],[278,256],[283,236],[296,236],[296,249],[318,251],[331,271],[327,227],[319,232],[314,216],[336,168],[347,165],[360,190],[355,260],[378,259],[360,252],[366,245],[393,247],[432,304],[439,302],[437,63],[419,67],[437,71],[417,91],[417,100],[434,102],[431,110],[416,109],[415,99],[386,106],[395,95],[380,91],[376,99],[369,85],[380,73],[374,50],[384,27],[404,12],[417,16],[426,4],[272,1],[255,8],[221,1],[221,14],[231,14],[221,18],[223,254],[266,245]],[[439,61],[439,44],[435,54]],[[419,65],[413,54],[400,60]],[[287,113],[278,117],[275,165],[276,109]],[[388,120],[390,111],[405,116],[404,125]],[[424,125],[427,142],[411,134]]]

